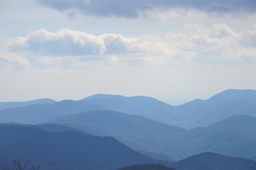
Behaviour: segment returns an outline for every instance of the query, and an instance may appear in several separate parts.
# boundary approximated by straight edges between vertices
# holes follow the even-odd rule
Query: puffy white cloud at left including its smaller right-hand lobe
[[[103,55],[132,52],[134,38],[106,33],[92,35],[78,30],[63,29],[57,33],[36,30],[26,37],[9,42],[12,51],[29,51],[34,55]]]

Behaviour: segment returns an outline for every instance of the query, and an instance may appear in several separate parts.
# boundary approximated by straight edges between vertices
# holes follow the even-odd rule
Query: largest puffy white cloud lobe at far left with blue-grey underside
[[[11,42],[11,50],[28,50],[40,55],[84,55],[105,52],[102,38],[76,30],[36,30]]]

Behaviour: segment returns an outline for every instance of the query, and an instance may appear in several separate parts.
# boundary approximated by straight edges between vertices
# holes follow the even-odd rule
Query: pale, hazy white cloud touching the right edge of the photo
[[[226,24],[215,24],[211,28],[202,25],[186,25],[190,50],[198,57],[218,60],[242,60],[256,56],[255,35],[250,31],[236,33]]]

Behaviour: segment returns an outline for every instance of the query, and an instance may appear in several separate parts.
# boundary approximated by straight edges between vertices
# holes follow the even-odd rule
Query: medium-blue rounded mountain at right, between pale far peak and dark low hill
[[[193,139],[191,145],[199,151],[193,154],[203,150],[256,160],[255,117],[234,115],[206,128],[195,128],[187,132],[186,140]]]

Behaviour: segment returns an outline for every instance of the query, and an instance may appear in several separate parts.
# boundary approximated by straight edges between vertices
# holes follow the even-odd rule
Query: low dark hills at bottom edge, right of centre
[[[250,159],[226,157],[221,154],[204,152],[195,154],[171,164],[176,170],[249,170],[255,169],[256,164]],[[159,164],[138,164],[127,166],[119,170],[172,170]]]

